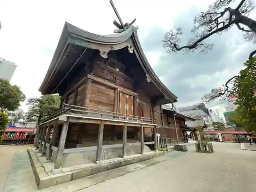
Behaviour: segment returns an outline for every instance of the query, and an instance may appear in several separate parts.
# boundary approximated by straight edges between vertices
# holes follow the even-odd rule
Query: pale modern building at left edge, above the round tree
[[[10,81],[16,67],[17,66],[14,62],[11,62],[0,57],[0,79]]]

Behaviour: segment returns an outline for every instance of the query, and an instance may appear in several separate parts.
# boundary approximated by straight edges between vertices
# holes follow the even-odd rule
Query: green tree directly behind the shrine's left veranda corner
[[[51,113],[58,111],[60,106],[60,96],[58,95],[42,95],[39,98],[30,98],[27,102],[32,105],[31,111],[26,114],[27,121],[37,121],[49,116]]]

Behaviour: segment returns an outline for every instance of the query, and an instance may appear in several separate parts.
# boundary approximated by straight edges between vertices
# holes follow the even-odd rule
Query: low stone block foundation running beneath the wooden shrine
[[[37,155],[38,152],[35,151],[33,148],[28,148],[27,152],[30,158],[38,189],[46,188],[75,179],[80,179],[82,177],[87,177],[93,174],[105,172],[106,170],[129,164],[138,163],[140,161],[145,161],[165,154],[164,152],[147,152],[143,155],[137,154],[130,155],[124,158],[103,160],[99,164],[89,163],[88,166],[86,166],[87,164],[70,166],[62,168],[61,173],[52,175],[52,173],[47,171],[47,163],[44,164],[39,160],[40,157],[42,158],[44,156]]]

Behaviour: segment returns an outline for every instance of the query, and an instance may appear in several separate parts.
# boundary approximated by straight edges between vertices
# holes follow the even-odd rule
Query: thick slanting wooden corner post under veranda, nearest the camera
[[[61,161],[62,161],[64,149],[65,149],[65,142],[66,142],[66,138],[67,138],[68,127],[69,127],[69,119],[67,121],[64,121],[64,123],[63,123],[62,131],[61,131],[61,135],[60,135],[60,139],[59,139],[57,156],[56,156],[56,160],[55,160],[53,169],[59,169],[61,167]]]

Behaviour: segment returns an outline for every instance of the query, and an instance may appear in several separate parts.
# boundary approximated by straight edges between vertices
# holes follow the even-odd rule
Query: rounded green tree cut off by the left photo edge
[[[2,112],[17,110],[20,102],[25,99],[26,96],[19,87],[12,86],[9,81],[0,79],[0,110]]]

